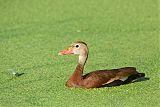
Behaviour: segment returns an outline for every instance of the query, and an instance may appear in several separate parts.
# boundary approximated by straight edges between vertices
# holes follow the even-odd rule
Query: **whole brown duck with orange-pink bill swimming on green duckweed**
[[[85,42],[72,43],[67,49],[59,52],[59,55],[78,54],[78,65],[67,81],[68,87],[98,88],[109,84],[121,85],[134,79],[144,77],[144,73],[138,73],[134,67],[124,67],[112,70],[97,70],[83,76],[83,69],[88,58],[88,47]]]

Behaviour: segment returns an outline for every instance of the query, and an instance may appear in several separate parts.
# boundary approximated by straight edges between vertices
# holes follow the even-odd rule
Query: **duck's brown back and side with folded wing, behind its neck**
[[[124,67],[111,70],[97,70],[83,76],[84,86],[87,88],[101,87],[115,81],[125,82],[139,77],[134,67]],[[132,77],[132,78],[130,78]]]

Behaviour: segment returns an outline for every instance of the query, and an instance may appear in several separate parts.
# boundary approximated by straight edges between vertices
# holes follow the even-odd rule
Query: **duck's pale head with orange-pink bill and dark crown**
[[[78,54],[79,56],[88,55],[88,47],[85,42],[73,42],[68,48],[59,52],[58,55]]]

